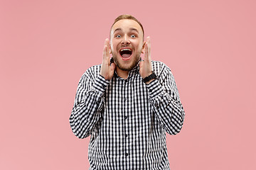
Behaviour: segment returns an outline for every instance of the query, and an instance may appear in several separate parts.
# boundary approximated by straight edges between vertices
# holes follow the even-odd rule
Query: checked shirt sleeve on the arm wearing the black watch
[[[164,66],[159,79],[146,86],[149,91],[149,103],[161,127],[170,135],[176,135],[183,126],[185,112],[171,69]]]

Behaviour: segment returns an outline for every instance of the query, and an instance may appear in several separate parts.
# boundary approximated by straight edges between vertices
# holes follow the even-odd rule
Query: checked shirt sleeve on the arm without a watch
[[[69,119],[74,135],[79,138],[88,137],[100,121],[105,89],[110,83],[101,75],[93,78],[86,72],[81,77]]]

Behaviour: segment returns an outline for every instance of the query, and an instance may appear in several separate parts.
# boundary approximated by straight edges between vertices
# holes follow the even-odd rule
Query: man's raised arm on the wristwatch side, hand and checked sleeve
[[[151,64],[151,42],[150,38],[146,38],[143,51],[144,61],[139,63],[139,74],[144,79],[152,72]],[[156,118],[166,132],[171,135],[176,135],[181,131],[185,112],[178,96],[174,76],[171,74],[165,64],[161,64],[159,71],[159,79],[151,79],[146,82],[146,87],[149,90],[149,103],[156,114]],[[161,82],[161,83],[160,83]]]

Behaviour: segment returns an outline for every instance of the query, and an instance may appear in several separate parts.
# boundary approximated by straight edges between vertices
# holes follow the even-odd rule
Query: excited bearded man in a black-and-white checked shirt
[[[73,133],[90,135],[90,169],[169,169],[166,132],[180,132],[184,116],[171,70],[151,61],[142,24],[117,17],[102,64],[82,75],[70,115]]]

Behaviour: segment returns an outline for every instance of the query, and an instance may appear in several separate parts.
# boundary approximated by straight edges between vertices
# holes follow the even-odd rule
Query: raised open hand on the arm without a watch
[[[100,75],[107,80],[112,79],[114,75],[115,64],[112,62],[110,65],[110,40],[108,38],[105,40],[105,45],[103,49],[103,59],[102,66],[100,68]]]

